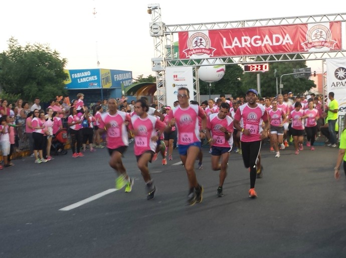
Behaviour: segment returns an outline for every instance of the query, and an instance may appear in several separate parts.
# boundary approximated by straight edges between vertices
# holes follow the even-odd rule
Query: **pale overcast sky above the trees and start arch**
[[[149,3],[159,3],[170,25],[345,12],[340,4],[302,0],[2,0],[0,51],[13,36],[23,46],[48,44],[68,60],[67,69],[98,68],[99,61],[100,68],[130,70],[134,78],[154,76]],[[322,70],[320,60],[309,66]]]

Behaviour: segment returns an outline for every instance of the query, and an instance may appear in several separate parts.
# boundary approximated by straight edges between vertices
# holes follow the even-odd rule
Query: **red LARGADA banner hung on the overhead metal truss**
[[[341,22],[179,32],[179,58],[340,50]]]

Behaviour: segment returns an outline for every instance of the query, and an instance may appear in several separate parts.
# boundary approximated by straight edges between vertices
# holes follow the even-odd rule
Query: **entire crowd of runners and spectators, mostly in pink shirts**
[[[209,144],[211,168],[220,171],[216,195],[224,195],[223,184],[233,150],[242,155],[244,166],[250,171],[249,197],[255,198],[256,178],[263,176],[260,150],[265,140],[270,143],[270,151],[275,152],[276,158],[289,142],[293,142],[294,153],[299,154],[304,148],[304,139],[306,147],[313,151],[320,133],[326,137],[327,146],[337,146],[338,103],[334,93],[329,92],[328,105],[321,96],[310,94],[293,98],[290,94],[259,98],[255,89],[249,89],[245,98],[226,98],[221,94],[216,99],[198,103],[189,100],[188,88],[181,87],[173,106],[166,105],[161,110],[157,110],[155,104],[149,106],[146,97],[132,100],[130,104],[125,96],[111,98],[97,102],[89,110],[84,104],[84,94],[78,93],[71,105],[64,98],[60,102],[53,99],[45,111],[39,98],[31,107],[19,99],[13,108],[4,99],[0,109],[3,164],[5,167],[14,165],[11,156],[15,151],[16,135],[18,139],[27,138],[35,163],[54,159],[52,139],[66,125],[74,158],[83,157],[87,149],[93,152],[95,147],[103,147],[101,139],[105,135],[103,141],[110,154],[109,164],[118,175],[116,188],[125,187],[125,191],[130,192],[134,180],[128,176],[122,156],[133,140],[134,155],[150,200],[154,198],[156,187],[148,163],[160,155],[162,165],[166,165],[167,159],[174,159],[173,149],[178,146],[188,177],[187,203],[193,205],[202,201],[204,190],[195,173],[195,162],[198,160],[198,168],[203,168],[201,147]],[[346,143],[342,144],[340,147],[346,149]],[[338,158],[335,166],[336,178],[339,177],[341,160]],[[346,165],[344,167],[346,170]]]

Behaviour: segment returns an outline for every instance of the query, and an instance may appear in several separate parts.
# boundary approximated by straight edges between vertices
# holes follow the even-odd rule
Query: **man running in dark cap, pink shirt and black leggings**
[[[234,127],[241,132],[240,140],[242,147],[243,161],[246,168],[250,168],[250,190],[249,197],[257,197],[255,182],[257,177],[257,166],[259,178],[262,174],[262,166],[259,164],[259,153],[261,140],[268,137],[268,113],[261,104],[256,103],[258,93],[256,89],[249,89],[246,92],[247,103],[238,107],[234,115]],[[262,127],[264,122],[264,128]]]

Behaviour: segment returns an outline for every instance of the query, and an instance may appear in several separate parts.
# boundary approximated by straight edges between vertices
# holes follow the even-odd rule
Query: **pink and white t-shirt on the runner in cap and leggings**
[[[263,105],[250,107],[247,103],[238,107],[234,119],[240,121],[243,128],[250,130],[249,135],[241,133],[240,139],[244,142],[261,140],[260,128],[262,120],[268,120],[268,113]]]

